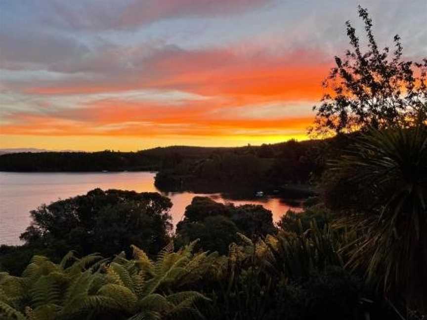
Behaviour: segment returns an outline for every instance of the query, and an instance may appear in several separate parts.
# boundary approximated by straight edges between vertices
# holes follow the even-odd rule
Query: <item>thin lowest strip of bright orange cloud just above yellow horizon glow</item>
[[[0,134],[32,136],[271,136],[304,135],[304,128],[312,118],[277,120],[204,120],[197,124],[178,123],[171,119],[159,122],[129,121],[116,126],[95,126],[74,121],[46,119],[45,117],[27,118],[25,124],[3,126]]]

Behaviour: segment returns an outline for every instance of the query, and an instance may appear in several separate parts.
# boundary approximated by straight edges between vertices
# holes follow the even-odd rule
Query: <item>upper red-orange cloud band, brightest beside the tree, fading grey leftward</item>
[[[30,94],[58,95],[151,88],[215,96],[272,97],[266,100],[318,100],[321,81],[331,66],[324,62],[322,52],[314,50],[271,55],[236,49],[188,51],[173,47],[153,50],[152,55],[142,60],[140,50],[130,51],[135,54],[128,58],[133,66],[131,69],[122,70],[117,66],[123,62],[114,61],[120,60],[121,56],[116,51],[115,54],[104,52],[112,59],[114,74],[107,73],[94,80],[56,80],[24,87],[23,90]],[[86,61],[85,66],[96,72],[102,69],[96,65],[105,64],[105,60],[102,56],[95,57]],[[56,68],[62,70],[61,67]],[[80,71],[82,68],[79,64],[66,66],[67,71]]]

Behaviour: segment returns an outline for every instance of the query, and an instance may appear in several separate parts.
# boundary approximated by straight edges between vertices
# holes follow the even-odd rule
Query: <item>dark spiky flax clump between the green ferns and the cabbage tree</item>
[[[314,221],[299,234],[239,235],[220,270],[210,319],[358,319],[361,282],[342,269],[337,236]]]

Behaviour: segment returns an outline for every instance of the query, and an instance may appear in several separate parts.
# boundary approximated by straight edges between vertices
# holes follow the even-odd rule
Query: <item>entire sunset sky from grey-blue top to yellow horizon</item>
[[[306,139],[358,3],[427,56],[426,0],[1,0],[0,148]]]

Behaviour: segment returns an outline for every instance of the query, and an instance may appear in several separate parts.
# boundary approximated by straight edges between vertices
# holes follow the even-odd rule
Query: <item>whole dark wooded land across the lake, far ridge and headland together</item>
[[[0,156],[1,171],[158,171],[155,184],[165,191],[286,191],[311,195],[310,182],[324,168],[323,149],[338,151],[337,139],[290,140],[236,148],[172,146],[139,152],[41,152]],[[322,156],[323,157],[323,156]]]

